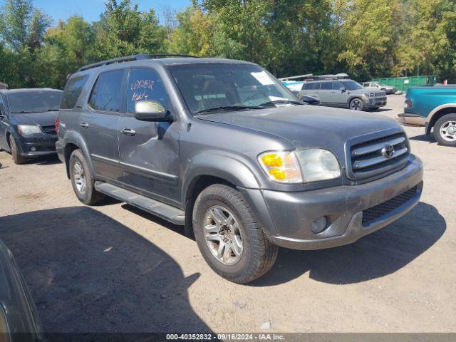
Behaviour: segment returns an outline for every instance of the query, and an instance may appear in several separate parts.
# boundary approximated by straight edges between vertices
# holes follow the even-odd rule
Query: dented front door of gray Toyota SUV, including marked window
[[[121,182],[136,192],[169,204],[180,203],[179,123],[140,121],[135,103],[153,100],[171,110],[160,75],[152,68],[131,68],[127,83],[127,113],[118,128]]]

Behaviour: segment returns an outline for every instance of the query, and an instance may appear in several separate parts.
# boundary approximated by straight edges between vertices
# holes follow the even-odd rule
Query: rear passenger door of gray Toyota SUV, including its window
[[[124,78],[125,69],[100,73],[90,93],[87,110],[79,117],[80,132],[100,178],[116,180],[120,175],[117,131],[125,106]]]

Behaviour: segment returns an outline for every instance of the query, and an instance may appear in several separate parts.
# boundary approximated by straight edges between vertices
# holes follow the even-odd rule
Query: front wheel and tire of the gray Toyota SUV
[[[217,211],[224,214],[225,223],[234,222],[229,228],[231,233],[221,235],[207,230],[207,227],[214,227],[212,230],[217,231],[224,226],[212,220],[211,213]],[[217,274],[237,284],[247,284],[266,274],[277,259],[279,248],[266,238],[244,196],[227,185],[210,185],[199,194],[193,208],[193,232],[199,251],[207,264]],[[233,232],[235,234],[232,234]],[[220,242],[213,239],[217,239],[217,234],[219,237],[229,238],[228,233],[233,237],[232,246],[236,237],[238,241],[241,239],[241,252],[235,253],[236,248],[227,247],[229,245],[225,244],[223,257],[219,259],[216,254]],[[213,239],[206,239],[205,236],[209,235]]]

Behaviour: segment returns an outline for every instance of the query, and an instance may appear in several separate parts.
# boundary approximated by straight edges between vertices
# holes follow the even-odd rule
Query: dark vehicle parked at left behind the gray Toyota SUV
[[[56,127],[62,90],[0,90],[0,149],[16,164],[56,153]]]

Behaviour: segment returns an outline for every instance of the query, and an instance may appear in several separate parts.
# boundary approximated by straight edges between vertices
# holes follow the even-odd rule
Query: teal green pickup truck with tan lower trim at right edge
[[[401,123],[425,126],[440,145],[456,147],[456,85],[409,88],[398,116]]]

